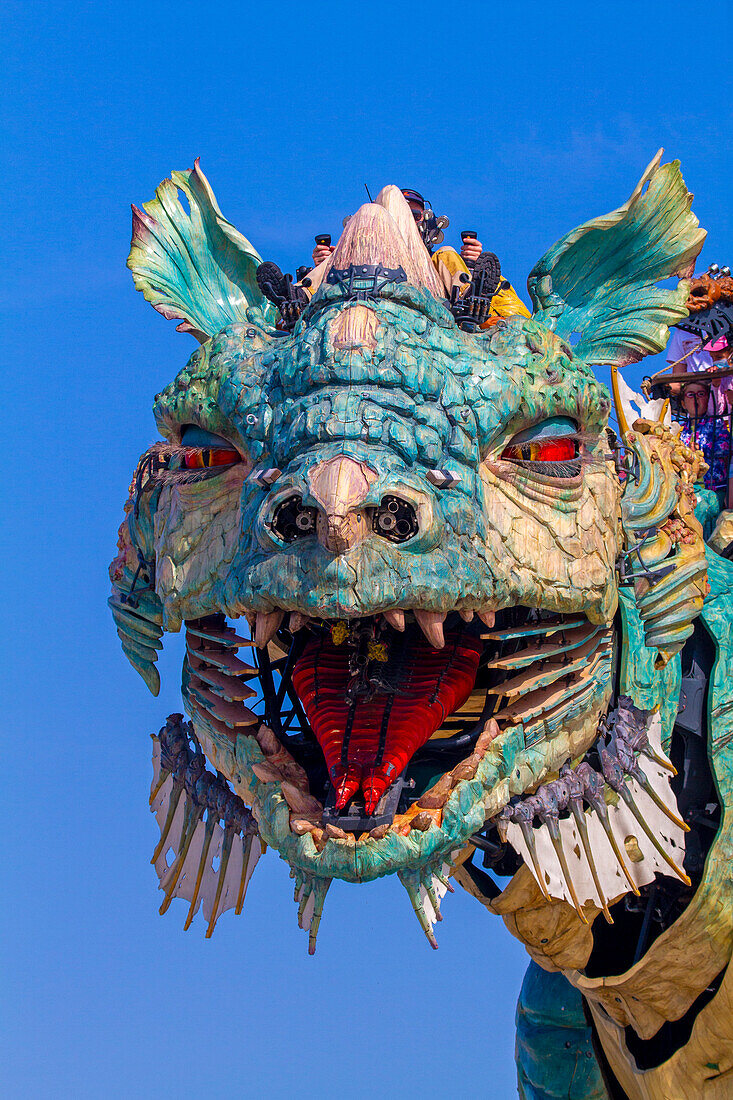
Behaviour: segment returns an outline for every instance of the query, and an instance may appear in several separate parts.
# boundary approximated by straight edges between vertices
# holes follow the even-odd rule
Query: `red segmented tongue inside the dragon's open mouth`
[[[433,649],[422,636],[400,644],[404,652],[396,694],[379,692],[347,702],[353,650],[335,646],[328,635],[308,642],[295,666],[293,684],[326,759],[337,810],[361,787],[364,809],[372,814],[417,749],[463,705],[475,683],[478,639],[449,634],[444,649]],[[372,670],[390,671],[375,661]]]

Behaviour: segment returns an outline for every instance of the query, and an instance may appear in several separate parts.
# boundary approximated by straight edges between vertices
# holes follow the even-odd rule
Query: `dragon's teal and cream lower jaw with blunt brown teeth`
[[[590,667],[592,673],[586,675],[584,683],[580,676],[568,689],[569,698],[544,711],[540,707],[532,721],[526,715],[523,721],[514,721],[529,694],[513,696],[508,706],[486,703],[473,726],[463,723],[472,748],[468,757],[446,770],[411,804],[405,805],[403,800],[391,823],[370,829],[342,828],[338,813],[326,811],[288,751],[287,736],[278,741],[272,730],[259,724],[222,734],[221,723],[211,722],[206,710],[190,701],[188,708],[207,757],[252,805],[265,844],[275,848],[296,873],[365,882],[389,873],[402,876],[450,865],[471,836],[513,795],[533,790],[562,763],[582,756],[595,737],[599,717],[611,694],[610,631],[593,651]],[[484,697],[495,698],[485,691]],[[551,691],[548,702],[553,704]],[[491,716],[492,708],[496,718]],[[450,721],[455,724],[459,718],[453,715]],[[420,748],[427,746],[439,759],[440,740],[446,740],[445,727],[436,727],[418,746],[407,777],[419,762]],[[348,809],[344,805],[341,811]],[[349,817],[348,812],[344,817]]]

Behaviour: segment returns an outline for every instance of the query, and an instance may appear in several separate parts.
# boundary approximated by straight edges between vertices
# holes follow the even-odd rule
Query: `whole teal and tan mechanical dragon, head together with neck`
[[[532,957],[525,1100],[731,1094],[731,514],[705,544],[702,455],[652,405],[616,437],[593,373],[687,316],[690,202],[657,155],[537,262],[532,317],[470,330],[397,187],[288,331],[198,162],[133,208],[135,286],[199,342],[110,566],[153,693],[186,636],[161,911],[210,935],[272,849],[311,953],[332,880],[383,876],[435,947],[460,883]]]

